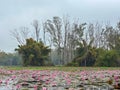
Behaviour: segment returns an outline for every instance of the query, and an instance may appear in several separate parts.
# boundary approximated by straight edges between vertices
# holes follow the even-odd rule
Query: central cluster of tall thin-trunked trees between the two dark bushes
[[[63,65],[71,62],[75,56],[74,51],[77,43],[82,40],[86,23],[79,24],[74,21],[70,24],[66,16],[63,19],[53,17],[53,20],[48,19],[45,24],[52,44],[57,49],[57,56],[59,56],[58,64]]]

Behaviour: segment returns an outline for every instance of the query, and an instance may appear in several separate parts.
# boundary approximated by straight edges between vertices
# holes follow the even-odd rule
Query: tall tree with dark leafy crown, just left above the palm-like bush
[[[68,46],[70,52],[71,61],[75,58],[75,50],[81,42],[83,41],[84,30],[86,29],[86,23],[79,24],[78,22],[74,22],[72,25],[72,31],[68,35]]]

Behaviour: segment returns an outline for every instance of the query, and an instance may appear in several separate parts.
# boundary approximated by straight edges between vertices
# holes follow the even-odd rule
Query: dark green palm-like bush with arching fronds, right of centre
[[[76,49],[76,58],[74,59],[74,63],[78,63],[79,66],[93,66],[95,63],[96,52],[95,48],[92,47],[93,40],[90,41],[89,44],[83,40],[83,43],[79,45]]]

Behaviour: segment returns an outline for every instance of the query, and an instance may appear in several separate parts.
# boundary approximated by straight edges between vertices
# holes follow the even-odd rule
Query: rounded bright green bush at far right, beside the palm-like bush
[[[115,67],[119,65],[118,60],[119,56],[115,50],[99,49],[95,66]]]

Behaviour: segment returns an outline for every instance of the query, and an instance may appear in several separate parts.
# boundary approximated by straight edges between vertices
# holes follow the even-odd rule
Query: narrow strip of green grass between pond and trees
[[[120,70],[120,67],[22,67],[22,66],[6,66],[4,67],[8,70],[59,70],[59,71],[81,71],[81,70]]]

